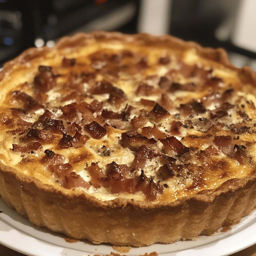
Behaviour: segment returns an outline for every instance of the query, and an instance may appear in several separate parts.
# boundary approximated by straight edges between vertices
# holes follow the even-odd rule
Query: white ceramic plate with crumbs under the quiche
[[[15,210],[5,205],[1,197],[0,211],[0,243],[15,251],[31,256],[92,256],[116,252],[108,244],[97,245],[83,241],[68,243],[64,235],[38,228],[28,219],[19,216]],[[132,248],[129,253],[124,254],[137,256],[155,251],[159,256],[225,256],[256,243],[255,230],[256,211],[226,233],[201,236],[196,241]]]

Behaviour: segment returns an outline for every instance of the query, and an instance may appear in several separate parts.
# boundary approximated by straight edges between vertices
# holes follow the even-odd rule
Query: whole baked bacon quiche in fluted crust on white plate
[[[0,73],[0,195],[37,226],[145,246],[256,204],[256,76],[222,49],[102,31]]]

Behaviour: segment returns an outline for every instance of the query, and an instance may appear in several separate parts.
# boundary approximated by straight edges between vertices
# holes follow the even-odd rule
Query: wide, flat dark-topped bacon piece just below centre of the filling
[[[127,131],[122,133],[121,142],[131,145],[132,147],[138,148],[142,144],[144,145],[154,145],[156,140],[153,138],[148,139],[142,134],[136,132],[135,130]]]

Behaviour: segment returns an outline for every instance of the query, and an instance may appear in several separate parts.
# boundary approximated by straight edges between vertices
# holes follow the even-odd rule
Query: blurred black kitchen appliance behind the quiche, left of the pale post
[[[136,0],[0,0],[0,65],[29,47],[78,31],[136,33]]]

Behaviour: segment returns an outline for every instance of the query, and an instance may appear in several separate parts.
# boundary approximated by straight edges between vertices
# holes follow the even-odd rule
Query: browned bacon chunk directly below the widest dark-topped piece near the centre
[[[151,160],[154,157],[155,152],[146,145],[141,145],[133,159],[131,164],[132,172],[135,170],[143,169],[145,167],[147,159]]]

